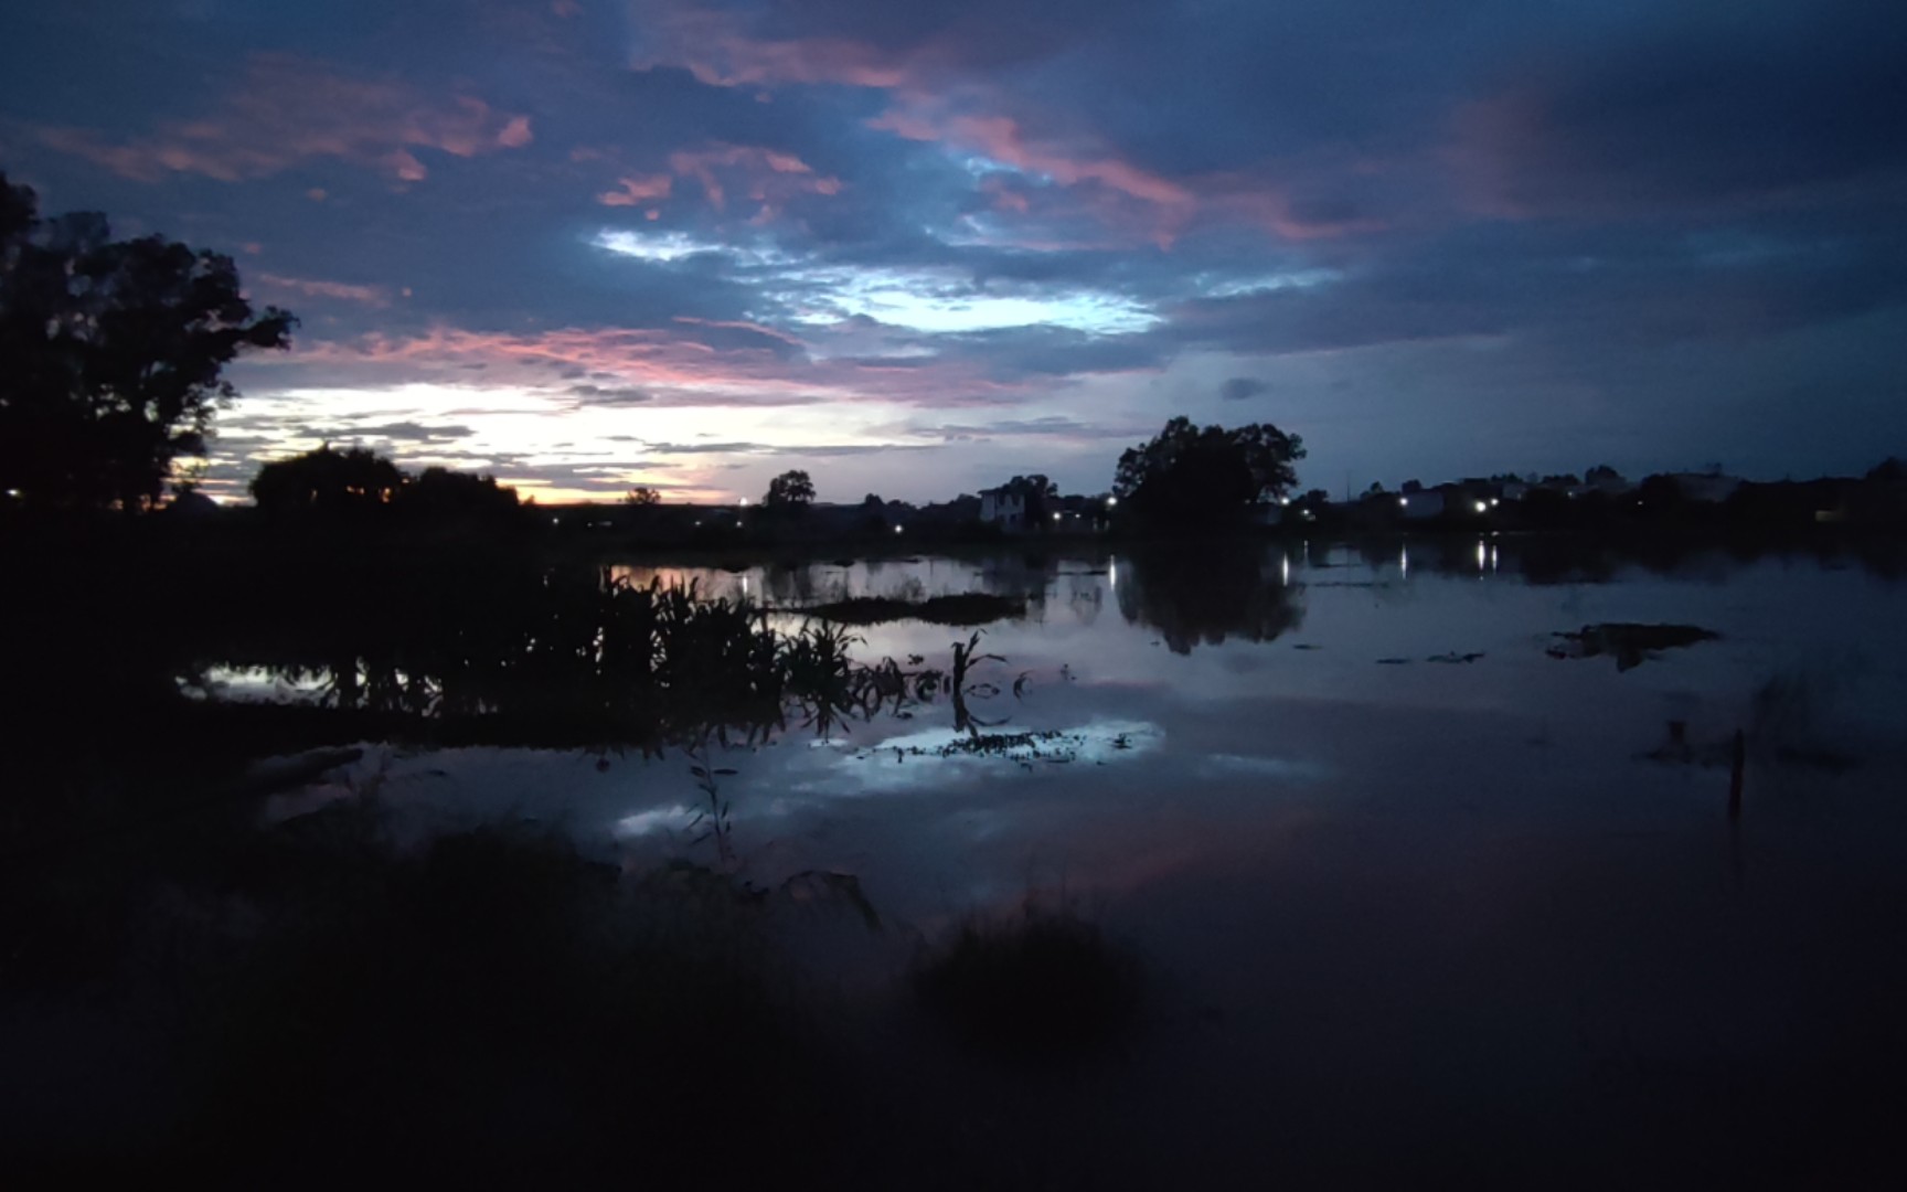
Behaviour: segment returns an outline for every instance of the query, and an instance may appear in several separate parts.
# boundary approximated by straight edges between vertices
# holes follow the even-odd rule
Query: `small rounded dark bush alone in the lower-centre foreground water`
[[[1013,1058],[1104,1051],[1137,1020],[1138,965],[1097,923],[1028,904],[969,919],[913,976],[921,1001],[969,1043]]]

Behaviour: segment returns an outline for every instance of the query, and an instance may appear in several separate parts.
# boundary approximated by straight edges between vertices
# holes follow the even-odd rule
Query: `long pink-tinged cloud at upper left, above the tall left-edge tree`
[[[254,55],[240,80],[196,120],[170,120],[143,137],[109,141],[84,128],[40,128],[42,145],[135,181],[202,174],[244,181],[313,158],[339,158],[416,183],[429,168],[416,151],[477,156],[530,143],[530,118],[494,113],[475,95],[425,95],[395,80],[334,74],[284,53]]]

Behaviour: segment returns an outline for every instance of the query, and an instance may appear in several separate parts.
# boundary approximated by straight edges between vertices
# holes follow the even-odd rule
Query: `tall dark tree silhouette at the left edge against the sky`
[[[0,175],[0,488],[29,507],[153,507],[236,397],[225,364],[288,347],[294,324],[252,309],[231,257],[114,240],[97,214],[42,219]]]

